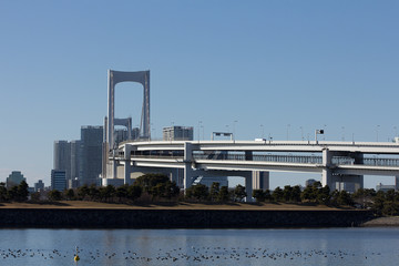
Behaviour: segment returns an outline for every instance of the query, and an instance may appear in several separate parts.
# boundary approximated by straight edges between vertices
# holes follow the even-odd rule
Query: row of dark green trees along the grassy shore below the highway
[[[269,208],[346,208],[370,209],[376,216],[399,215],[399,193],[392,191],[376,192],[375,190],[358,190],[356,193],[346,191],[330,191],[328,186],[321,186],[319,182],[300,190],[299,186],[286,185],[274,191],[254,190],[252,197],[256,203],[243,203],[246,197],[245,187],[237,185],[235,188],[219,186],[213,183],[211,187],[202,184],[193,185],[185,193],[171,182],[166,175],[145,174],[135,180],[133,185],[114,187],[96,187],[83,185],[74,190],[63,192],[28,192],[28,184],[21,184],[7,188],[0,183],[0,203],[11,206],[10,203],[50,204],[57,206],[58,202],[93,202],[129,206],[180,206],[200,208],[229,206],[234,208],[256,208],[269,206]],[[108,205],[111,206],[111,205]],[[255,206],[255,207],[254,207]],[[0,205],[1,207],[1,205]],[[267,207],[266,207],[267,208]]]

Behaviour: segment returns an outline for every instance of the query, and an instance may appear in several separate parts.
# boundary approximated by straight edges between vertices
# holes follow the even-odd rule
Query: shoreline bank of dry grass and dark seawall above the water
[[[1,203],[0,228],[399,227],[399,216],[298,204],[96,202]]]

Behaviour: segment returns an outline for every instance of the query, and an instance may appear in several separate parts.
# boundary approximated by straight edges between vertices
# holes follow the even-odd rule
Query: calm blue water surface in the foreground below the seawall
[[[398,265],[399,228],[0,229],[0,265]]]

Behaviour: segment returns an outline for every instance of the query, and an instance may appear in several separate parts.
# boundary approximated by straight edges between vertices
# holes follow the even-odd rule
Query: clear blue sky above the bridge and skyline
[[[237,121],[237,140],[324,127],[329,141],[388,141],[398,13],[398,1],[367,0],[2,0],[0,181],[19,170],[50,184],[53,141],[103,123],[108,69],[151,70],[153,136],[202,121],[209,139]],[[117,116],[139,124],[141,102],[139,84],[117,86]],[[276,176],[272,187],[303,182]]]

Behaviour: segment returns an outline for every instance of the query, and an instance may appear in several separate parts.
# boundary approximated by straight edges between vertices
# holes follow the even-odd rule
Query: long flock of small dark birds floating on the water
[[[380,253],[372,253],[369,256],[381,255]],[[43,260],[47,259],[71,259],[75,265],[81,260],[82,263],[95,263],[103,260],[112,260],[117,258],[125,260],[139,260],[139,262],[153,262],[162,264],[162,262],[173,262],[177,263],[178,260],[191,262],[191,263],[205,263],[205,262],[237,262],[245,259],[310,259],[310,258],[328,258],[334,257],[337,259],[344,259],[348,256],[357,256],[355,253],[348,253],[344,250],[335,252],[324,252],[324,250],[308,250],[308,252],[280,252],[280,250],[270,250],[268,248],[224,248],[224,247],[191,247],[187,249],[174,248],[171,250],[158,249],[157,255],[155,256],[142,256],[135,252],[101,252],[95,249],[94,252],[79,249],[76,247],[75,252],[68,250],[47,250],[47,249],[0,249],[0,259],[18,259],[18,258],[33,258],[40,257]],[[362,255],[362,259],[367,259],[367,256]]]

